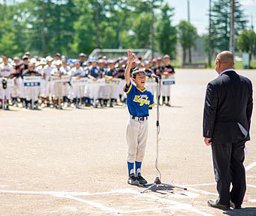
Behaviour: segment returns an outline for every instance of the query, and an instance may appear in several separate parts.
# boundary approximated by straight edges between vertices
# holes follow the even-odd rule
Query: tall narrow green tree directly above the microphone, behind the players
[[[167,4],[161,8],[161,19],[156,28],[158,49],[161,53],[170,55],[170,58],[175,57],[177,44],[177,30],[171,23],[173,10],[174,8]]]

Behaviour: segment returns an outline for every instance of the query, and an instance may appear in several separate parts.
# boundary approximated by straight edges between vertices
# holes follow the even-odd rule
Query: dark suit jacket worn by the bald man
[[[233,70],[224,72],[206,89],[203,136],[212,142],[239,142],[243,134],[249,140],[252,106],[251,81]]]

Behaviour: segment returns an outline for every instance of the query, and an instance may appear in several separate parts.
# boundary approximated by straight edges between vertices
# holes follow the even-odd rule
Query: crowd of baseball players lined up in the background
[[[87,60],[87,61],[84,61]],[[123,94],[124,86],[124,68],[126,67],[126,58],[109,60],[103,57],[89,58],[81,53],[79,60],[66,61],[56,53],[54,59],[50,56],[47,58],[30,58],[29,53],[23,55],[22,62],[19,58],[14,58],[12,64],[9,63],[8,56],[3,55],[2,64],[0,65],[0,106],[9,109],[10,104],[19,104],[20,107],[38,109],[38,100],[41,99],[41,106],[50,106],[62,108],[65,106],[79,107],[79,104],[85,106],[105,107],[109,103],[110,107],[120,98],[123,104],[126,103],[126,95]],[[153,65],[151,65],[153,63]],[[169,55],[164,56],[164,65],[162,59],[157,58],[153,61],[145,61],[144,64],[137,58],[132,65],[131,71],[136,68],[145,68],[148,79],[151,74],[157,74],[161,77],[169,77],[175,74],[174,68],[169,65]],[[52,83],[49,77],[62,77],[67,75],[73,80],[79,80],[87,77],[93,81],[100,78],[114,80],[119,78],[119,85],[93,85],[93,86],[72,86],[70,82]],[[40,86],[24,86],[23,77],[41,76]],[[5,82],[8,79],[14,80],[14,86],[8,87]],[[154,94],[154,86],[150,88]],[[162,90],[163,104],[169,106],[170,86],[163,86]],[[167,99],[167,103],[165,100]],[[5,105],[4,105],[5,104]]]

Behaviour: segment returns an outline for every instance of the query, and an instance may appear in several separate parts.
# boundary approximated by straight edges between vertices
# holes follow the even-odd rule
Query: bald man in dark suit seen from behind
[[[208,83],[203,113],[203,136],[212,145],[212,160],[218,199],[208,200],[214,208],[241,208],[245,195],[245,142],[250,139],[252,85],[233,71],[233,54],[218,53],[218,77]],[[230,183],[232,190],[230,191]]]

